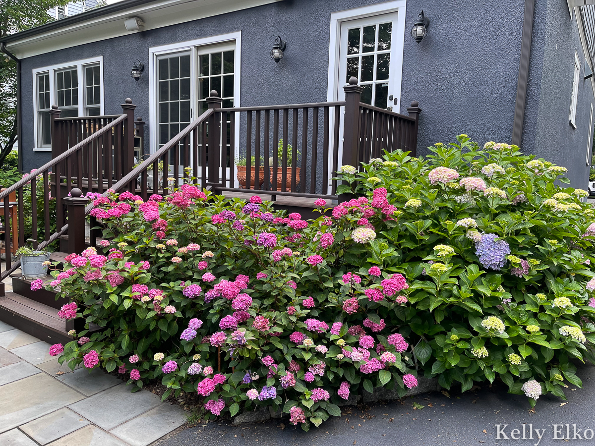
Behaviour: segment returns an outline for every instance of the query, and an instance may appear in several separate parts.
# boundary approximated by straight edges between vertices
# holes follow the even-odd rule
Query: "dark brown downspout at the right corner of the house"
[[[521,60],[519,78],[516,84],[515,118],[512,124],[512,143],[521,146],[522,127],[525,120],[525,101],[529,80],[529,59],[531,58],[531,39],[533,37],[533,13],[535,0],[525,0],[525,12],[522,20]]]

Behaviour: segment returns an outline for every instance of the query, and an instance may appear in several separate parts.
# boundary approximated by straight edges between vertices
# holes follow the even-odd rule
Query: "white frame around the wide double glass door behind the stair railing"
[[[234,78],[233,78],[233,91],[234,91],[234,107],[240,106],[240,80],[241,80],[241,55],[242,55],[242,32],[236,31],[232,33],[219,34],[217,36],[201,37],[200,39],[186,40],[185,42],[170,43],[168,45],[159,45],[149,47],[149,123],[152,123],[151,137],[149,140],[149,150],[151,153],[155,153],[159,147],[158,140],[158,125],[157,123],[157,106],[158,106],[158,76],[157,76],[157,59],[159,56],[168,54],[176,54],[181,52],[190,52],[190,122],[196,120],[198,116],[198,54],[200,46],[205,45],[216,45],[218,43],[233,43],[235,42],[234,49]],[[218,92],[221,94],[222,92]],[[235,144],[234,144],[234,156],[239,156],[240,150],[240,120],[236,120],[235,125]],[[227,178],[236,178],[234,176]]]

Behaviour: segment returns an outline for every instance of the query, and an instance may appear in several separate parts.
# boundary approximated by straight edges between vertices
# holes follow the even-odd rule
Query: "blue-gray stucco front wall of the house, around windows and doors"
[[[538,4],[540,2],[546,4],[547,0],[538,0]],[[140,81],[134,81],[129,74],[134,59],[139,58],[148,66],[149,46],[241,30],[242,106],[324,101],[327,98],[330,14],[373,3],[377,1],[287,0],[24,59],[24,168],[37,167],[49,159],[49,153],[31,150],[33,68],[103,55],[105,112],[120,112],[120,104],[130,97],[137,105],[136,115],[148,120],[151,73],[145,70]],[[566,2],[550,0],[550,4],[553,15],[553,4],[565,5]],[[467,133],[482,143],[511,139],[523,5],[522,0],[408,1],[401,111],[405,113],[412,100],[420,103],[419,153],[426,153],[424,147],[450,141],[459,133]],[[409,30],[422,9],[430,18],[430,28],[428,36],[417,44],[409,36]],[[549,17],[550,10],[547,12]],[[541,12],[536,11],[536,17],[538,14]],[[539,27],[536,24],[536,29]],[[555,37],[556,32],[550,32],[549,36]],[[269,52],[277,35],[287,41],[287,51],[283,60],[275,65]],[[553,64],[555,58],[551,60]],[[533,60],[531,65],[533,70]],[[541,79],[538,73],[534,78]],[[572,81],[572,76],[568,81]],[[566,90],[569,92],[569,87]],[[580,94],[583,93],[581,89]],[[537,90],[535,95],[539,94]],[[542,99],[537,102],[540,111],[543,102]],[[563,109],[559,112],[561,115],[568,113],[566,106],[560,109]],[[544,110],[543,114],[553,113]],[[577,120],[578,115],[580,112],[577,112]],[[535,127],[534,123],[540,119],[535,117],[525,131]],[[585,119],[588,120],[588,116]],[[145,134],[149,134],[149,125],[151,123],[146,126]],[[535,137],[528,141],[525,149],[531,150],[534,141]],[[558,147],[548,150],[555,152]]]

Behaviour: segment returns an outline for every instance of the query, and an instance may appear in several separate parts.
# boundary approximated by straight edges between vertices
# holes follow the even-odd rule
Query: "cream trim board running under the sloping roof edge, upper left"
[[[255,8],[284,0],[158,0],[7,43],[18,58],[137,33],[127,31],[124,20],[140,17],[143,30],[158,29],[201,18]],[[142,31],[141,31],[142,32]]]

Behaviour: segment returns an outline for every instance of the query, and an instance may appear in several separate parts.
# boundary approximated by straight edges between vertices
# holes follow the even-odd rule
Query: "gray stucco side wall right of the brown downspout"
[[[584,80],[586,62],[577,15],[573,13],[571,17],[566,2],[560,0],[538,0],[536,13],[539,21],[533,34],[530,92],[522,146],[530,147],[531,153],[547,161],[568,168],[572,186],[585,189],[588,180],[585,154],[592,144],[588,141],[588,133],[593,125],[589,121],[594,100],[593,85],[590,80]],[[572,127],[568,119],[575,50],[581,61],[577,128]]]

